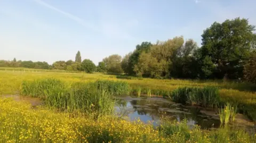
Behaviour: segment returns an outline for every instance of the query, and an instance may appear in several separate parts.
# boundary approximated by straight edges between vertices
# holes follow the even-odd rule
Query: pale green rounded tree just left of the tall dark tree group
[[[121,67],[121,62],[122,62],[122,57],[114,54],[110,55],[106,58],[103,59],[103,62],[106,64],[106,69],[107,72],[109,73],[122,73],[122,67]]]

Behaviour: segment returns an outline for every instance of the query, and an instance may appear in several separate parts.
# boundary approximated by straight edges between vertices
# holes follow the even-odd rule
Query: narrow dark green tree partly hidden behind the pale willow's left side
[[[134,65],[138,63],[140,54],[142,52],[146,52],[146,53],[149,52],[151,46],[152,44],[148,41],[143,41],[140,45],[136,46],[135,51],[129,57],[129,62],[128,62],[129,71],[127,71],[129,74],[135,74]]]

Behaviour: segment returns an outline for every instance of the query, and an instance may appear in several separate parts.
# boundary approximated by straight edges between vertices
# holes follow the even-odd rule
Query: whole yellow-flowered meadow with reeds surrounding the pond
[[[0,98],[1,142],[255,142],[245,129],[225,126],[189,129],[186,121],[163,118],[152,124],[129,122],[113,114],[113,95],[159,95],[174,102],[226,107],[256,120],[256,86],[219,80],[158,80],[124,75],[0,71],[0,94],[39,97],[45,106]],[[198,95],[198,96],[197,96]],[[211,96],[206,96],[211,95]],[[211,98],[210,98],[211,97]],[[212,103],[209,105],[208,103]],[[223,121],[233,118],[223,113]],[[234,113],[233,113],[234,114]],[[225,120],[226,116],[226,120]],[[226,121],[227,122],[227,121]]]

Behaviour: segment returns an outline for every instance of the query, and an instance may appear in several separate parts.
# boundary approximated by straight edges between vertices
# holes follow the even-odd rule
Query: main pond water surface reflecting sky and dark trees
[[[187,120],[187,124],[201,125],[202,128],[218,128],[220,121],[216,117],[206,115],[197,107],[186,107],[163,98],[132,98],[121,97],[116,102],[118,116],[127,116],[131,121],[138,118],[142,122],[153,121],[157,125],[161,116],[172,120]]]

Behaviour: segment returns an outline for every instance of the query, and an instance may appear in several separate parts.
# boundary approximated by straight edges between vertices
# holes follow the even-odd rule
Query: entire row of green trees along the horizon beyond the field
[[[246,79],[256,82],[255,26],[247,19],[214,22],[202,34],[202,46],[177,36],[165,41],[143,41],[124,57],[114,54],[96,66],[91,60],[46,62],[0,61],[0,66],[68,71],[125,73],[150,78]]]

